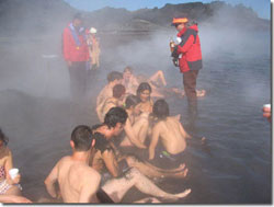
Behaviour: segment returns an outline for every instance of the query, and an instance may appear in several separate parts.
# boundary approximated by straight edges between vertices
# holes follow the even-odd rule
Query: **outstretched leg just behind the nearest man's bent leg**
[[[151,179],[162,179],[162,177],[178,177],[182,179],[185,177],[189,169],[185,169],[184,165],[180,165],[178,169],[164,170],[153,166],[148,162],[141,162],[137,160],[133,156],[128,156],[126,158],[126,162],[129,166],[134,166],[138,169],[144,175],[151,177]]]

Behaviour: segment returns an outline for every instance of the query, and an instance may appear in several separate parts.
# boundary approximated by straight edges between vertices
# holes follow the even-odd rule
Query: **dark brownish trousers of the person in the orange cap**
[[[197,94],[196,94],[196,80],[198,70],[190,70],[183,73],[184,92],[187,96],[189,110],[197,112]]]

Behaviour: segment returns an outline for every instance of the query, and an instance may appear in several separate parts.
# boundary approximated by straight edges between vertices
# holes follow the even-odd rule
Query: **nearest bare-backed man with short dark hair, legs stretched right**
[[[45,180],[46,189],[52,197],[59,197],[64,203],[121,203],[133,186],[150,196],[171,200],[191,193],[191,189],[185,189],[179,194],[169,194],[134,168],[123,177],[112,179],[100,187],[101,175],[88,165],[95,140],[90,127],[80,125],[73,129],[70,140],[72,154],[61,158]],[[59,191],[55,188],[56,182]],[[139,202],[148,200],[146,198]],[[156,198],[150,200],[159,202]]]

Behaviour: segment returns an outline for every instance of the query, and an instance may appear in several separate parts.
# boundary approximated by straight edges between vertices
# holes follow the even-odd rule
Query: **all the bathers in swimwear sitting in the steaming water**
[[[181,154],[186,148],[185,139],[191,136],[180,123],[180,115],[170,116],[169,105],[162,99],[170,93],[183,95],[182,91],[167,88],[162,71],[140,82],[144,78],[135,77],[129,67],[124,73],[110,72],[107,81],[96,100],[100,124],[73,129],[72,154],[61,158],[45,180],[48,194],[64,203],[122,203],[133,186],[149,195],[132,200],[136,203],[176,200],[189,195],[190,188],[171,194],[155,184],[164,177],[183,179],[189,172]],[[153,103],[152,97],[160,99]],[[7,173],[12,168],[11,152],[4,136],[0,138],[5,172],[2,182],[9,184],[0,194],[16,196],[10,200],[2,197],[2,202],[30,202],[20,196],[20,175],[12,181]],[[167,162],[169,168],[163,168]]]

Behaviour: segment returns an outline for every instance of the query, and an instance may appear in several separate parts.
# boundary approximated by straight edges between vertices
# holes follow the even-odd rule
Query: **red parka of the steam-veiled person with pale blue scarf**
[[[70,26],[68,25],[62,33],[62,54],[65,60],[69,61],[88,61],[89,60],[89,48],[84,38],[84,32],[78,34],[80,45],[78,46]]]

